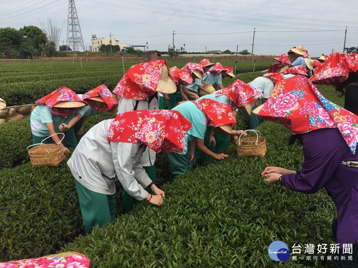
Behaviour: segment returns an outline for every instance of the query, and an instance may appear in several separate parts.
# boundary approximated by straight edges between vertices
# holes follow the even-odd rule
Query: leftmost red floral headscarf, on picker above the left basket
[[[83,103],[83,105],[76,108],[72,108],[71,111],[69,111],[68,113],[62,113],[61,110],[54,107],[61,101],[76,101],[77,103]],[[55,91],[47,94],[46,96],[37,100],[36,103],[45,104],[48,108],[50,108],[51,113],[61,115],[65,118],[73,111],[81,109],[83,106],[87,105],[76,93],[74,93],[74,91],[69,88],[66,88],[66,86],[63,86],[62,88],[56,89]]]

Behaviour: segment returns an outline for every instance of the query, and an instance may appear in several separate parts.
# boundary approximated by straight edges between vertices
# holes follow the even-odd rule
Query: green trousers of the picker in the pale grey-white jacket
[[[76,182],[79,206],[81,207],[83,227],[91,233],[92,227],[107,225],[116,216],[116,200],[114,194],[100,194],[88,190]]]

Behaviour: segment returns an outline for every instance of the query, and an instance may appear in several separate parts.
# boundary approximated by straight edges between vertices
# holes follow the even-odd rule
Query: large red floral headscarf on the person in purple
[[[285,125],[292,134],[338,128],[355,153],[358,116],[325,99],[305,76],[279,81],[262,109],[253,112],[263,119]]]

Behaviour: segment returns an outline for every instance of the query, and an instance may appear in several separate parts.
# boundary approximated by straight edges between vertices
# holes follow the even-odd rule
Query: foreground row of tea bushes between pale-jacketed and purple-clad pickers
[[[321,260],[271,260],[274,240],[290,248],[333,243],[330,224],[335,207],[324,190],[304,195],[261,177],[268,165],[299,169],[299,145],[286,146],[288,131],[264,122],[265,158],[230,157],[211,161],[163,185],[164,204],[147,202],[65,245],[91,259],[92,267],[331,267]],[[280,136],[280,139],[277,139]],[[292,252],[292,250],[290,250]]]

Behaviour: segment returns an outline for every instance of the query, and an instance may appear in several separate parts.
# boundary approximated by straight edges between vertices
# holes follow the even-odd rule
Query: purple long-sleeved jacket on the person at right
[[[287,188],[313,194],[323,187],[337,208],[337,239],[342,244],[358,243],[358,168],[339,164],[358,162],[337,128],[310,131],[302,136],[304,162],[297,174],[284,175]]]

